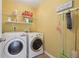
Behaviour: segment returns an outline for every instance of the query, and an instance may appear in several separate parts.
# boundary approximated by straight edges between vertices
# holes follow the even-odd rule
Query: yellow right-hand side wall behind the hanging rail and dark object
[[[71,56],[71,50],[75,50],[76,21],[73,20],[73,30],[69,31],[66,28],[66,20],[65,18],[63,20],[63,15],[58,16],[56,12],[56,8],[66,1],[67,0],[45,0],[37,11],[37,30],[44,33],[45,50],[56,57],[61,57],[63,49],[67,57]],[[74,7],[78,7],[78,4],[78,0],[74,0]],[[77,15],[74,14],[73,19],[75,19],[76,16]],[[57,26],[59,26],[59,20],[61,20],[61,28],[64,29],[64,48],[61,34],[56,29]]]

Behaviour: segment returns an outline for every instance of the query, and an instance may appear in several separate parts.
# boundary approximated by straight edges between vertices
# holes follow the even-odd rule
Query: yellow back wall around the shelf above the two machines
[[[25,10],[32,11],[33,15],[35,14],[34,9],[25,3],[17,2],[16,0],[3,0],[3,32],[13,31],[13,25],[11,23],[9,24],[6,23],[6,21],[8,19],[8,16],[11,15],[15,9],[17,9],[19,14],[21,14]],[[33,16],[33,19],[34,19],[34,16]],[[18,16],[18,21],[23,21],[21,16]],[[27,24],[17,24],[16,31],[24,31],[27,28],[30,28],[31,31],[34,31],[34,28],[35,28],[35,26],[33,26],[34,24],[35,24],[34,21],[30,26],[27,26]]]

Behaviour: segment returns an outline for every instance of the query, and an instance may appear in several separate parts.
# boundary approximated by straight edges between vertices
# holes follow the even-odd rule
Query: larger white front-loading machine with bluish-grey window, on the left
[[[2,35],[4,45],[2,47],[2,58],[26,58],[27,37],[24,32],[7,32]]]

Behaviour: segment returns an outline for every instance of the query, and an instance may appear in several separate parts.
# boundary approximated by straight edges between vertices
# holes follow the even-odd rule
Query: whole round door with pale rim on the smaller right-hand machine
[[[41,38],[36,37],[33,39],[32,44],[31,44],[31,49],[33,51],[37,52],[37,51],[41,50],[42,46],[43,46],[43,42],[42,42]]]

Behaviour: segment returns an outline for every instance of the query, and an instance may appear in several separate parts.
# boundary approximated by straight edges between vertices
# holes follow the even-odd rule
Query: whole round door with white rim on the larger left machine
[[[4,53],[7,56],[18,56],[22,53],[24,41],[21,38],[13,38],[8,41],[4,47]]]

